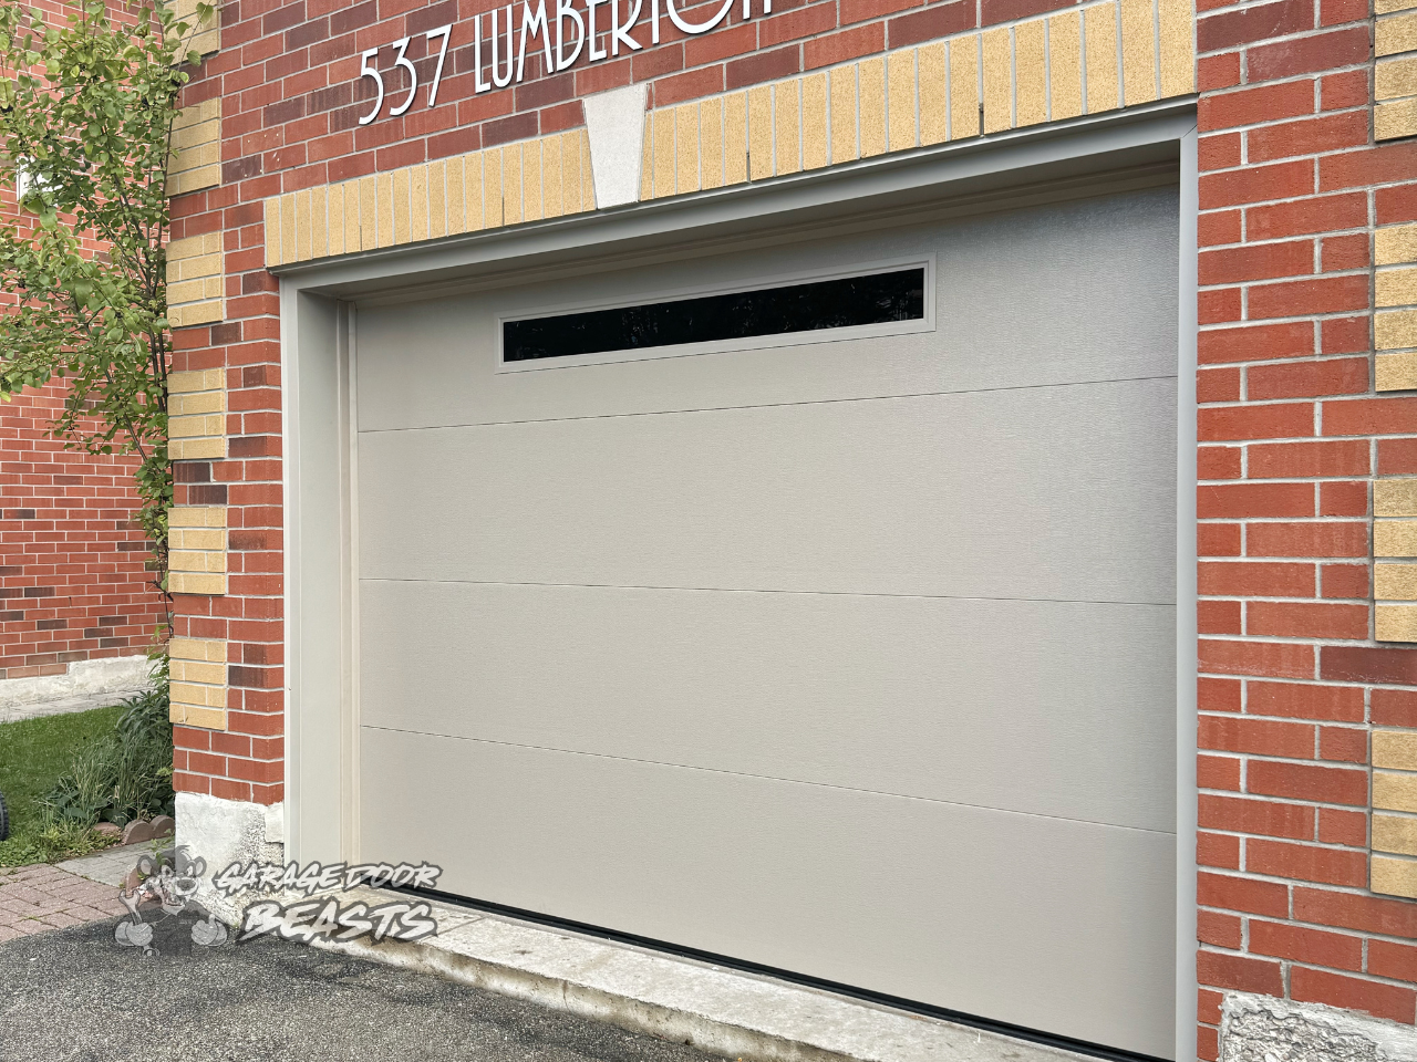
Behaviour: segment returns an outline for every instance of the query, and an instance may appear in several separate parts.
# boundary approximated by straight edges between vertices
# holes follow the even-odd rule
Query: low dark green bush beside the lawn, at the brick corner
[[[173,811],[167,684],[122,704],[113,732],[81,749],[44,799],[54,824],[125,826]]]

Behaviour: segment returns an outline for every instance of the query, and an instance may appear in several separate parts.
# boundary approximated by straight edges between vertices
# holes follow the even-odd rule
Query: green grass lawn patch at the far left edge
[[[86,827],[48,831],[40,800],[69,767],[74,753],[113,732],[120,707],[0,724],[0,793],[10,807],[10,840],[0,841],[0,867],[54,862],[103,848],[109,841]]]

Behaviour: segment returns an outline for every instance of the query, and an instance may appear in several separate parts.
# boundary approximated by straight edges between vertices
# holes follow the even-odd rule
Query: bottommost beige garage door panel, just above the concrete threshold
[[[1175,835],[523,745],[363,742],[380,858],[436,851],[452,882],[531,909],[1170,1049]]]

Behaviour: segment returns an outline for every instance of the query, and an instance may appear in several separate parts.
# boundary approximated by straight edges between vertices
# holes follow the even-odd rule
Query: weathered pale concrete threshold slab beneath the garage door
[[[354,889],[341,902],[402,899]],[[754,1062],[1078,1062],[1091,1056],[574,932],[434,905],[436,936],[319,947]]]

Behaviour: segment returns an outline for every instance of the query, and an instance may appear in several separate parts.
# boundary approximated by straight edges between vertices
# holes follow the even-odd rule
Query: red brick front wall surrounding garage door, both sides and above
[[[190,91],[222,98],[224,183],[177,202],[174,235],[224,231],[228,302],[224,324],[179,336],[177,367],[227,370],[231,457],[184,473],[179,504],[228,504],[232,531],[228,595],[183,599],[179,633],[228,639],[237,667],[231,732],[179,728],[179,787],[282,796],[265,197],[572,127],[580,95],[631,81],[665,106],[1067,4],[778,0],[696,38],[666,21],[657,47],[554,76],[529,50],[524,84],[473,96],[468,23],[493,6],[237,0]],[[1417,726],[1417,649],[1372,640],[1369,586],[1372,477],[1417,473],[1417,398],[1374,396],[1370,338],[1372,234],[1417,219],[1417,146],[1373,144],[1367,0],[1199,8],[1197,1054],[1213,1059],[1226,990],[1417,1018],[1417,905],[1366,889],[1369,728]],[[439,106],[356,126],[359,54],[448,21]]]

